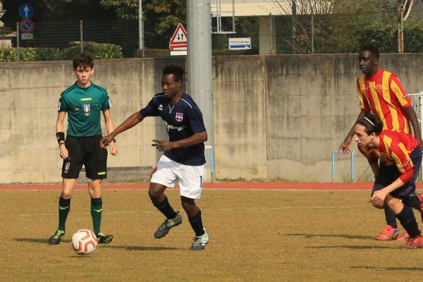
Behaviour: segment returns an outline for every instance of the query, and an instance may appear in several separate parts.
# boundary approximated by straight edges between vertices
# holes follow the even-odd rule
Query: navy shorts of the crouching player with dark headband
[[[416,193],[415,181],[417,176],[419,176],[420,166],[422,165],[422,148],[417,147],[412,150],[410,157],[412,164],[414,165],[412,168],[414,176],[412,177],[412,180],[389,193],[393,197],[403,199],[408,198],[408,195],[415,195]],[[372,195],[374,191],[381,190],[389,184],[393,183],[393,181],[397,180],[400,175],[401,173],[398,171],[398,167],[395,164],[391,166],[385,166],[384,164],[381,164],[379,166],[379,172],[377,173],[376,180],[374,180]]]

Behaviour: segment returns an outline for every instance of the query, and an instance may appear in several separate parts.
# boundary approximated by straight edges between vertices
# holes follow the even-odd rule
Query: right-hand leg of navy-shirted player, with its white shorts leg
[[[202,223],[202,213],[195,204],[195,199],[200,199],[204,180],[204,166],[183,165],[183,170],[178,173],[180,200],[182,207],[188,215],[188,221],[195,232],[194,242],[190,250],[204,250],[209,243],[209,235]]]

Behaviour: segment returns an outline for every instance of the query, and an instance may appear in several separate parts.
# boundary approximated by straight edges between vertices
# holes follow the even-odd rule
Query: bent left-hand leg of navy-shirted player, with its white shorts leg
[[[148,195],[154,207],[164,214],[166,219],[157,228],[154,233],[154,238],[163,238],[171,230],[171,228],[178,226],[182,223],[182,216],[179,212],[171,207],[168,202],[168,198],[164,194],[167,187],[174,187],[176,182],[176,174],[173,172],[174,169],[178,168],[180,164],[168,159],[166,156],[161,156],[156,168],[152,173],[150,180]]]

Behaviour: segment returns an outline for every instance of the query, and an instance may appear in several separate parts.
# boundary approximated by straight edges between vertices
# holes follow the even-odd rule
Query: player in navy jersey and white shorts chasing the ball
[[[164,154],[152,173],[149,197],[154,207],[166,216],[166,220],[154,237],[162,238],[171,228],[182,223],[182,216],[175,212],[164,195],[166,187],[173,188],[178,181],[182,207],[195,232],[190,250],[204,250],[209,235],[202,225],[202,214],[195,199],[200,199],[202,192],[207,132],[197,104],[182,91],[184,73],[179,66],[166,66],[161,78],[163,92],[155,94],[145,108],[129,116],[113,133],[103,137],[100,145],[106,147],[116,135],[137,125],[147,116],[160,116],[163,119],[169,140],[153,140],[152,146]]]

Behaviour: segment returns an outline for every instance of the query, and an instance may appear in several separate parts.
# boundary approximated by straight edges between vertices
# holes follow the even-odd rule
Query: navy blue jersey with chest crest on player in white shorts
[[[186,93],[183,93],[179,102],[174,105],[170,104],[170,99],[166,98],[163,92],[155,94],[140,113],[142,116],[161,116],[171,142],[206,131],[200,108]],[[190,166],[200,166],[206,162],[204,143],[171,149],[164,152],[164,155],[180,164]]]

